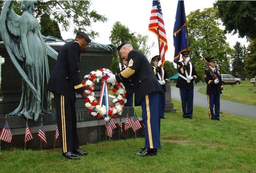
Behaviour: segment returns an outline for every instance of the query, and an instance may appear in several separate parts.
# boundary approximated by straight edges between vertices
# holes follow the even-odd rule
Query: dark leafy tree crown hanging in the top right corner
[[[256,1],[223,1],[214,3],[219,17],[226,27],[225,32],[236,34],[240,38],[256,38]]]

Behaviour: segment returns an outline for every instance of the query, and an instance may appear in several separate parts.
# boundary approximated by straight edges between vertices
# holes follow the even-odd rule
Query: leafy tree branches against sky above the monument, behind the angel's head
[[[62,24],[62,30],[68,31],[70,28],[73,32],[84,31],[94,39],[99,36],[98,32],[88,29],[92,22],[106,22],[108,19],[104,15],[98,14],[94,10],[90,10],[90,0],[78,1],[44,1],[38,0],[33,16],[41,20],[42,16],[50,16],[51,20],[55,20],[58,24]],[[3,3],[0,3],[2,8]],[[16,14],[21,15],[20,1],[14,1],[13,9]]]

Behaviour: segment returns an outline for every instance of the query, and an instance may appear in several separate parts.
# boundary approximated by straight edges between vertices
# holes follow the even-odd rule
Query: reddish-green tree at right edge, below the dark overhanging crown
[[[251,40],[248,45],[248,53],[245,57],[244,71],[247,78],[254,78],[256,76],[256,40]]]

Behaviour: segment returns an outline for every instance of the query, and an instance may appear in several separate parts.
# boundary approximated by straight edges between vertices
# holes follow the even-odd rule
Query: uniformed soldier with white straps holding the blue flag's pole
[[[176,87],[180,88],[180,99],[182,105],[183,118],[194,119],[193,99],[194,99],[194,80],[197,78],[196,69],[192,62],[189,62],[189,52],[181,52],[182,61],[177,62],[179,77]]]

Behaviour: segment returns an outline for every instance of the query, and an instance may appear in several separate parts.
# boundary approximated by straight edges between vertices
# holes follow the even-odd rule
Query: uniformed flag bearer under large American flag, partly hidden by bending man
[[[166,119],[164,116],[164,109],[165,109],[165,93],[166,93],[166,83],[168,82],[168,75],[164,67],[161,67],[162,72],[156,72],[157,67],[161,66],[162,61],[160,61],[159,55],[154,56],[151,59],[154,63],[154,66],[152,66],[154,70],[154,74],[156,75],[156,78],[158,79],[158,82],[162,86],[164,93],[161,94],[161,118]],[[160,61],[160,62],[159,62]]]

